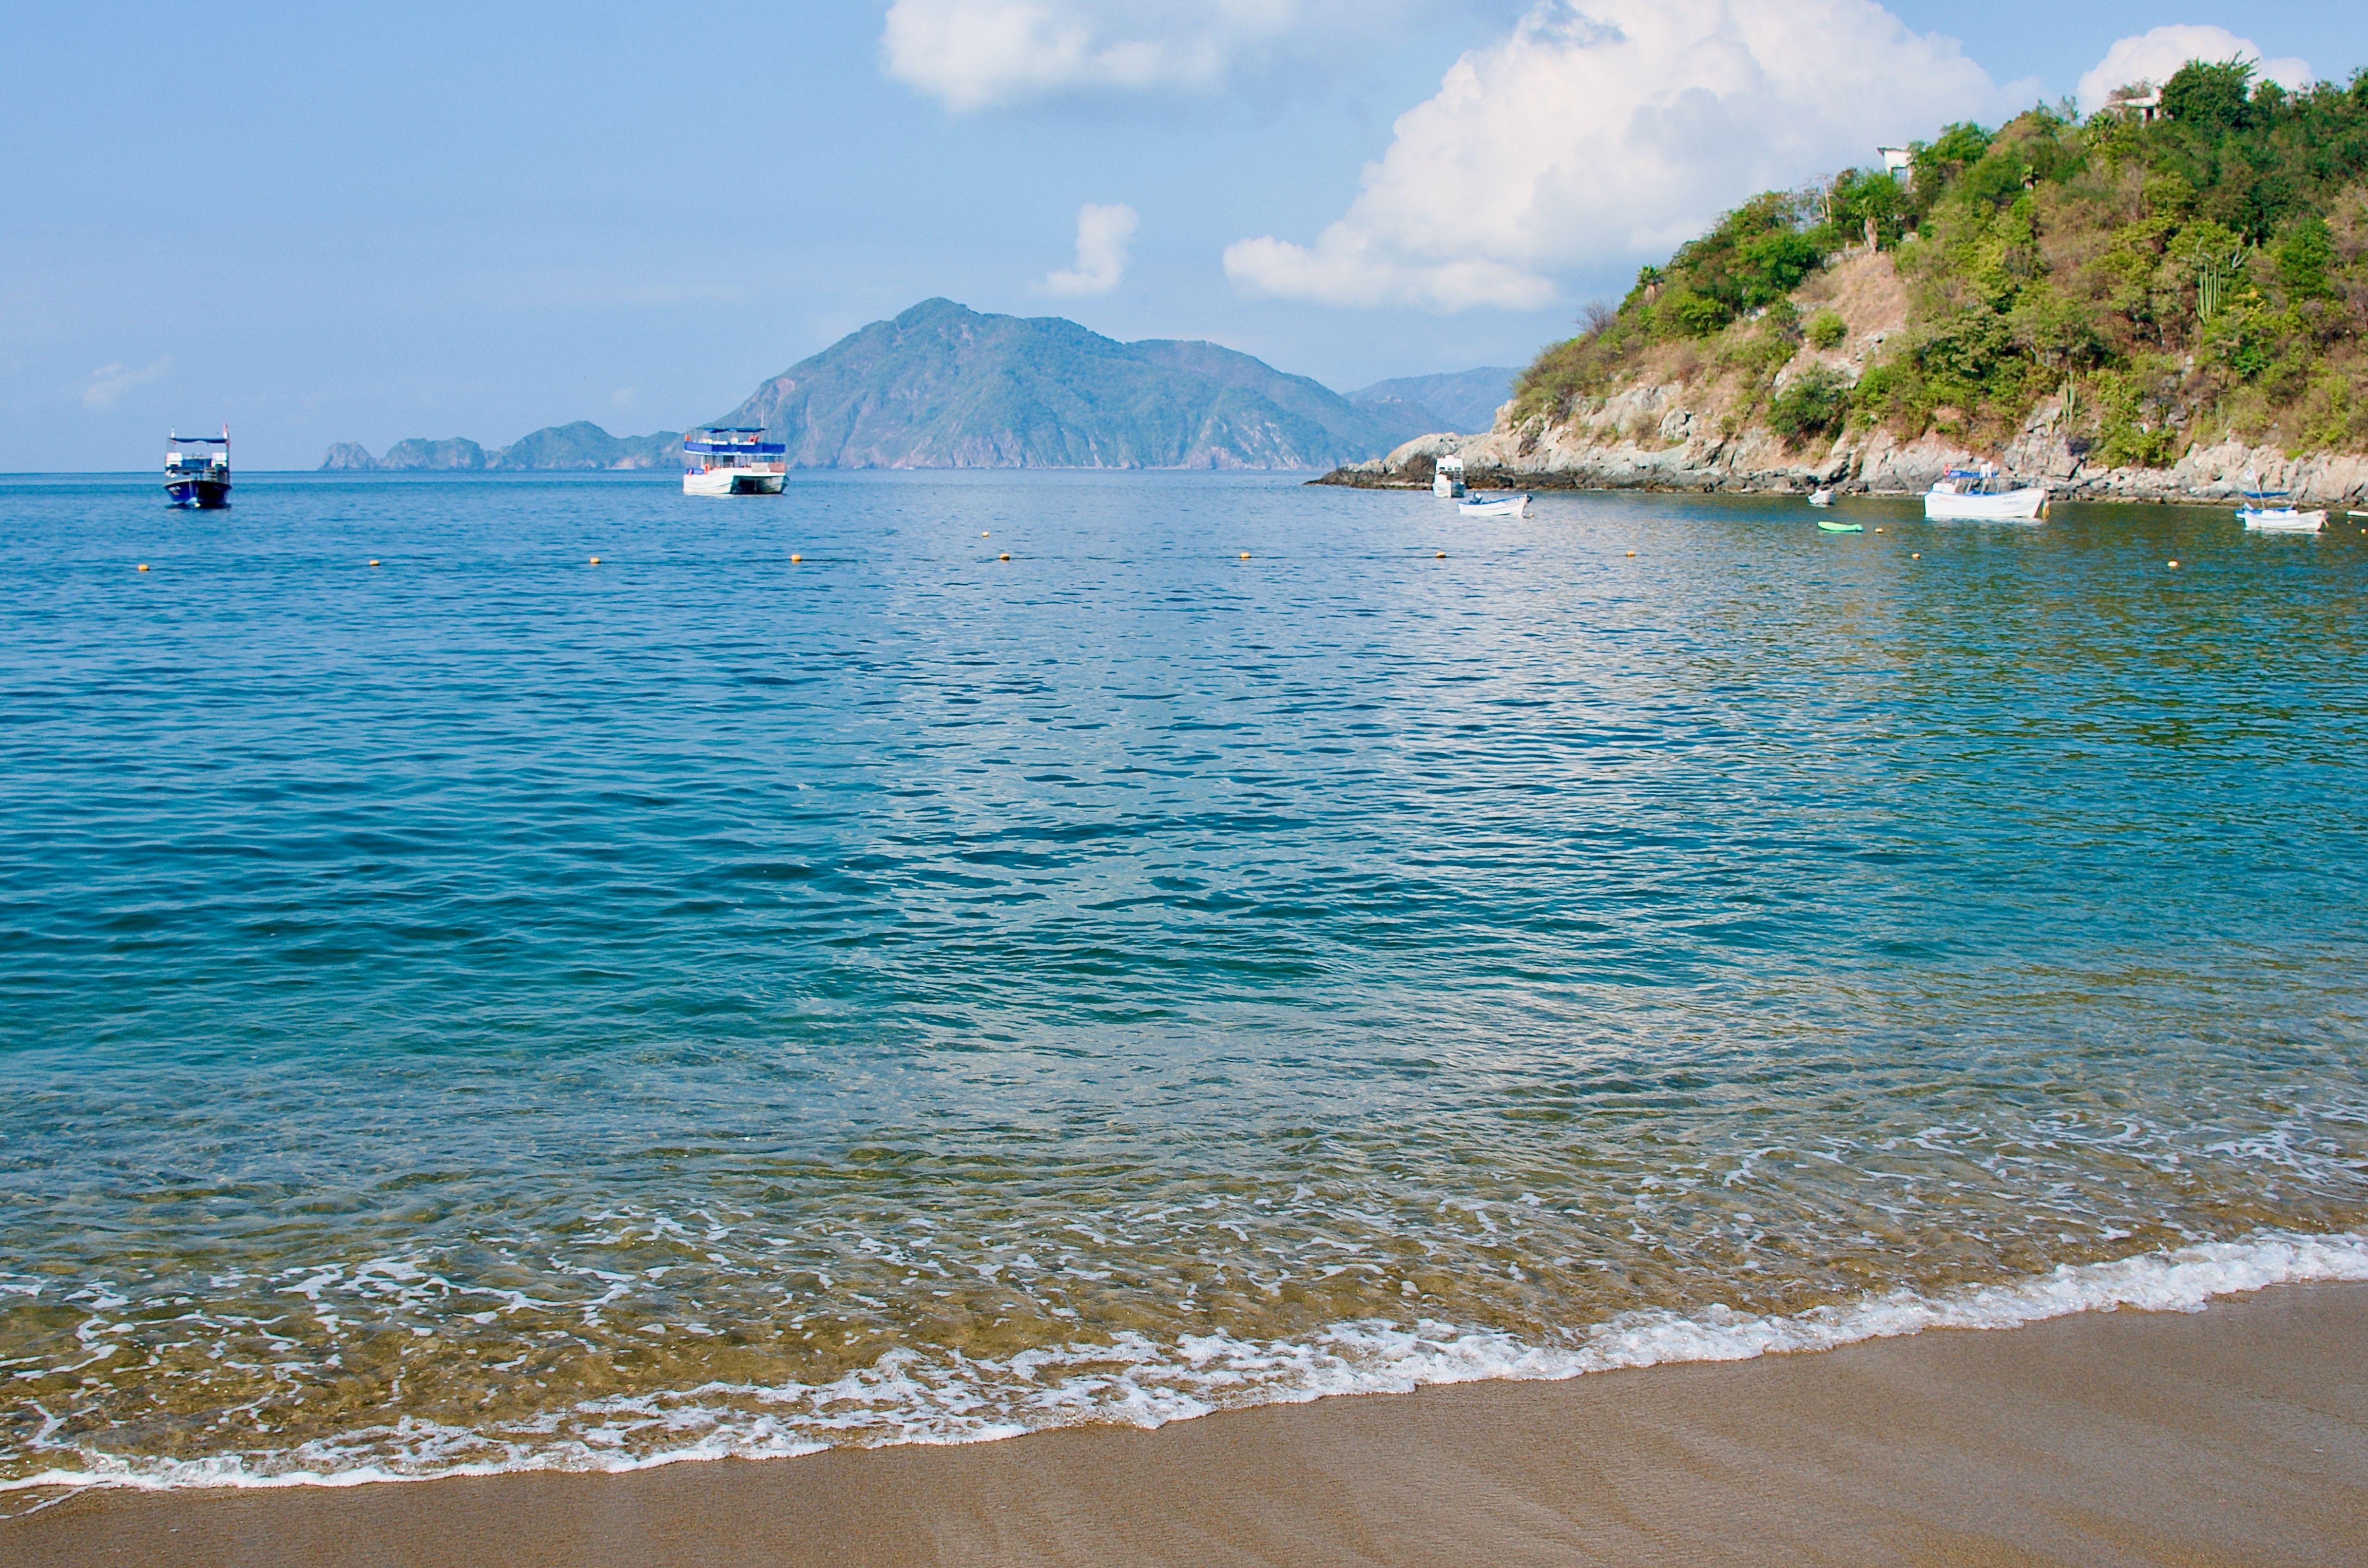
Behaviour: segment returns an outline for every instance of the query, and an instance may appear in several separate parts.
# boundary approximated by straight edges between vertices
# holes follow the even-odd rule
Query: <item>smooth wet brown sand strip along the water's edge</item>
[[[2368,1563],[2368,1286],[1148,1433],[92,1490],[0,1521],[0,1563]]]

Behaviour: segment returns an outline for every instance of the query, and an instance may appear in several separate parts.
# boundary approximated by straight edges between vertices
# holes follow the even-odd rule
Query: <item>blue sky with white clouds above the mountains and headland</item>
[[[0,471],[682,429],[931,296],[1340,391],[1523,365],[1878,142],[2368,64],[2321,0],[7,0],[5,38]]]

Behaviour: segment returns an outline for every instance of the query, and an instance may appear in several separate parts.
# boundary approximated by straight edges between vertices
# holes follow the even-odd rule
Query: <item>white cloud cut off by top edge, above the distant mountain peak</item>
[[[1369,36],[1407,0],[895,0],[888,76],[971,111],[1073,92],[1210,92],[1276,52]]]

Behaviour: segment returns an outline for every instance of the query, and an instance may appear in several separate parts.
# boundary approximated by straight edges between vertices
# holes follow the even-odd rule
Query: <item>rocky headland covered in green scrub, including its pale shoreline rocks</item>
[[[1726,213],[1549,346],[1487,436],[1336,483],[2368,500],[2368,71],[2290,92],[2190,62],[2074,121],[1949,126]]]

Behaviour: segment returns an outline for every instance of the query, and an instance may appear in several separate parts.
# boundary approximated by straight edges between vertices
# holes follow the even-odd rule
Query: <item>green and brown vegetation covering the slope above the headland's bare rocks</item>
[[[1868,237],[1897,258],[1906,329],[1854,384],[1807,369],[1778,393],[1800,343],[1842,327],[1793,291]],[[1674,358],[1795,443],[1880,424],[1994,448],[2065,396],[2103,464],[2224,436],[2368,450],[2368,71],[2287,92],[2195,62],[2153,121],[2117,104],[1951,126],[1906,185],[1849,171],[1762,194],[1589,315],[1523,372],[1518,415],[1568,417]]]

